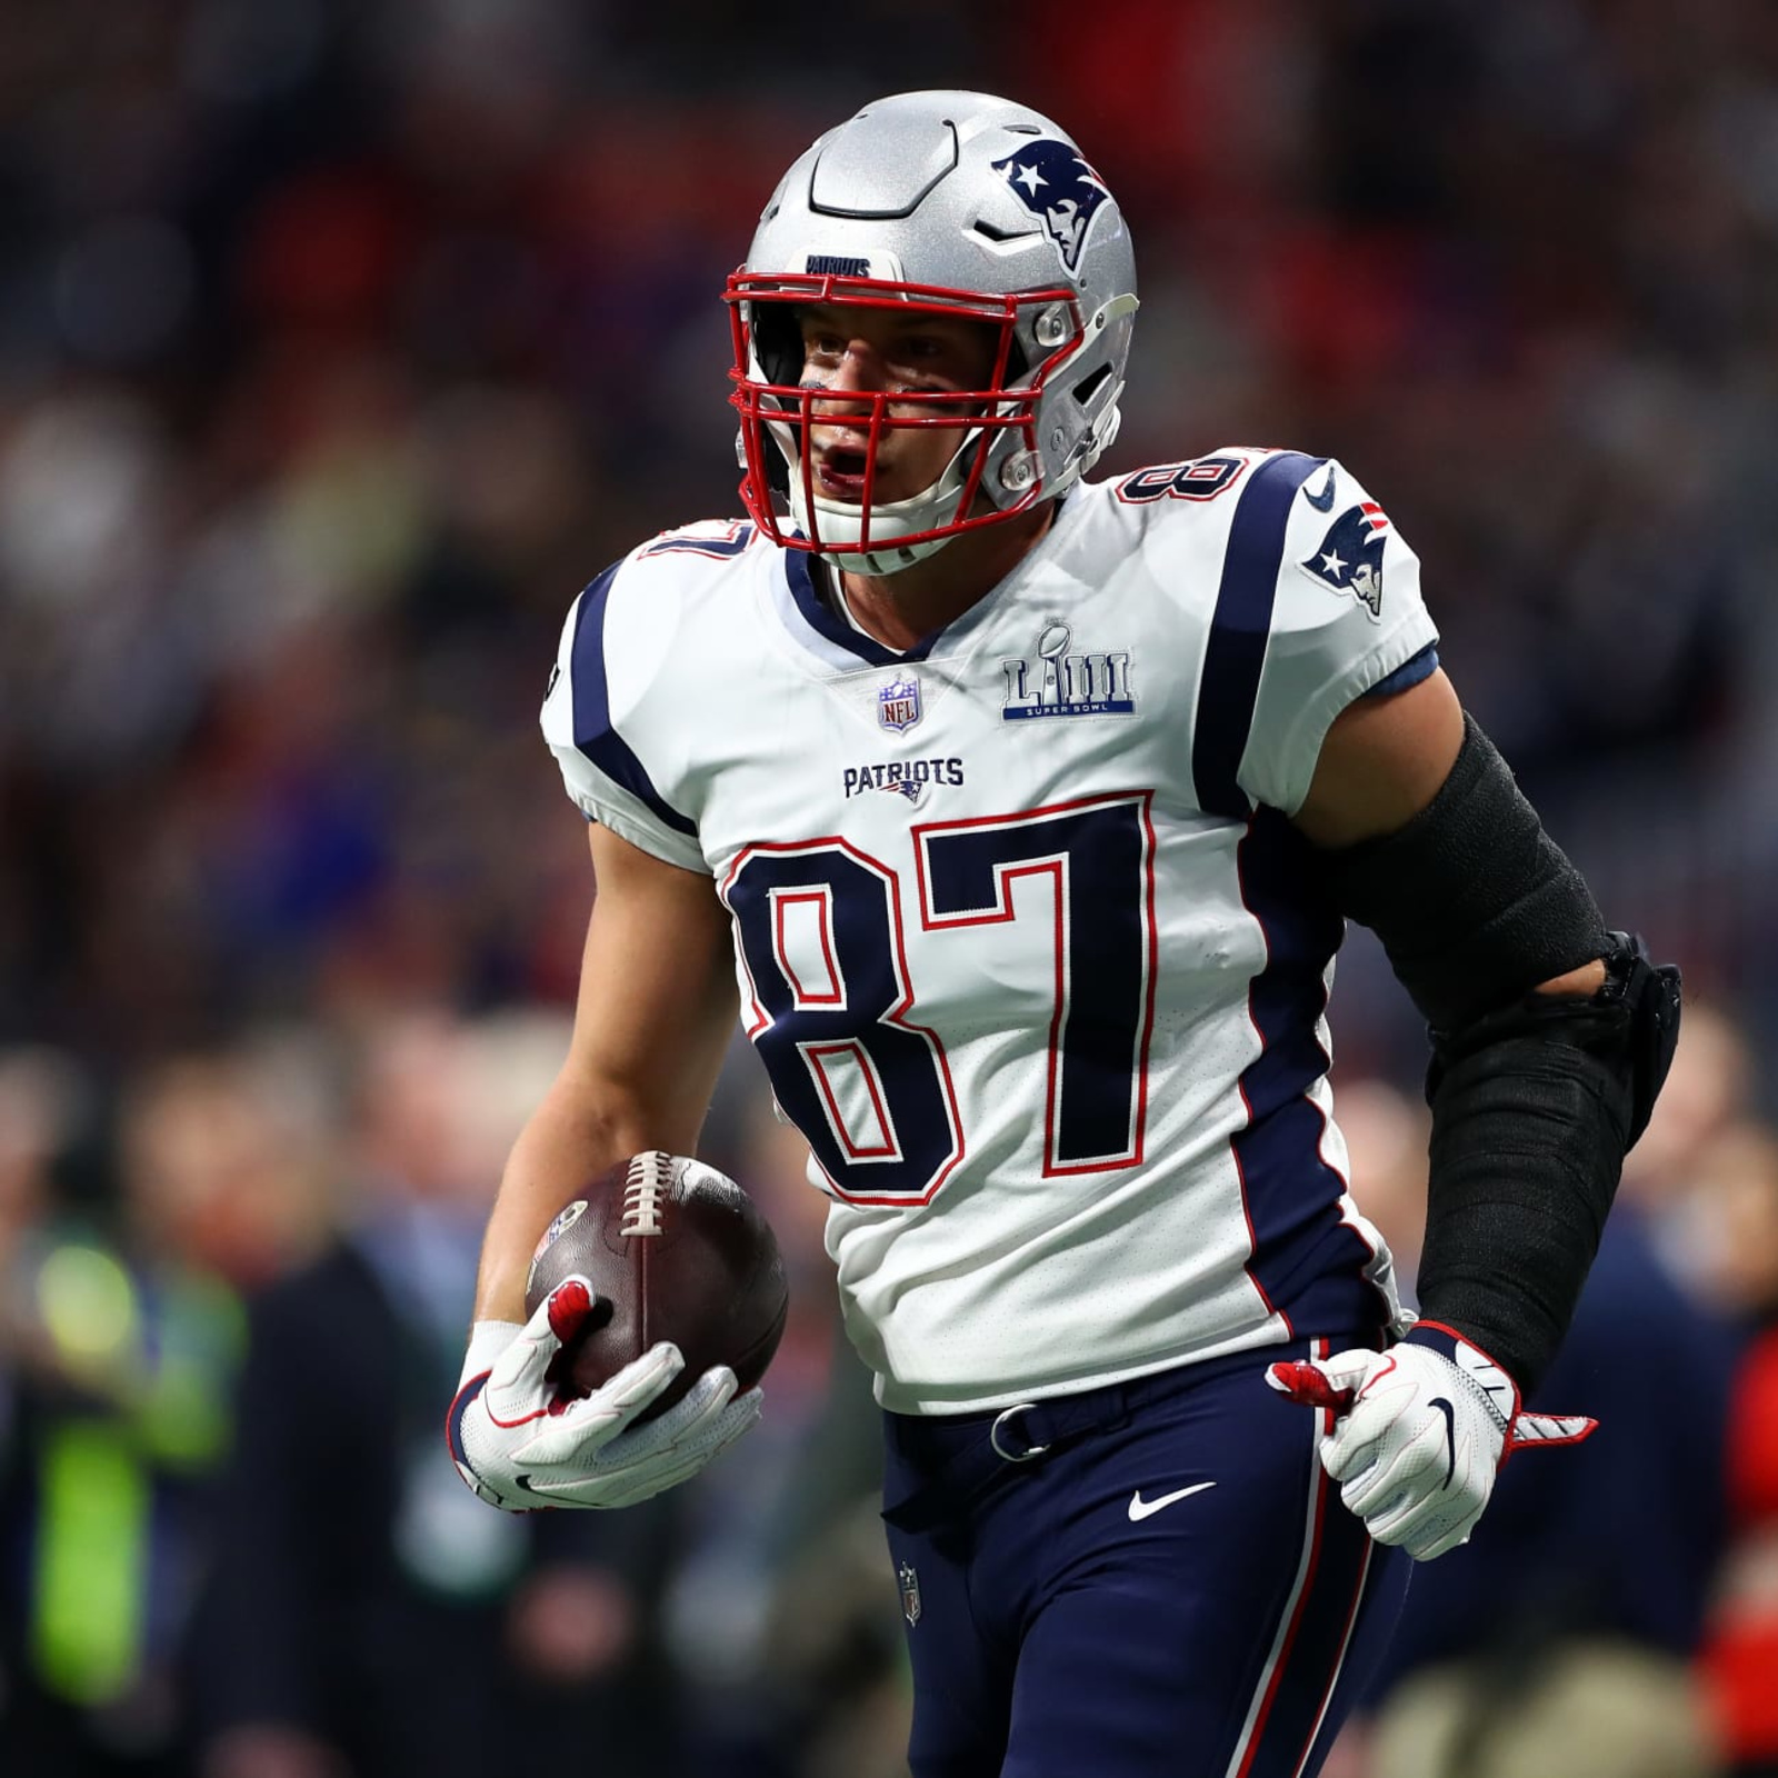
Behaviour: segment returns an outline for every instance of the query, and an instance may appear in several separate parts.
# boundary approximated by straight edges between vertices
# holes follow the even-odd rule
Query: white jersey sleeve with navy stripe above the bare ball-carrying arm
[[[589,821],[669,864],[708,873],[697,823],[674,802],[665,749],[651,743],[670,640],[663,633],[669,601],[651,622],[644,601],[624,597],[626,567],[628,558],[606,569],[567,613],[544,695],[544,740]]]

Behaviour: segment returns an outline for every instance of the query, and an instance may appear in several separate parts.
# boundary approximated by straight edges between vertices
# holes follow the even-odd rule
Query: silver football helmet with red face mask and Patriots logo
[[[1054,500],[1117,436],[1136,313],[1129,229],[1074,140],[1010,100],[900,92],[829,130],[772,194],[724,300],[741,498],[786,548],[891,574]],[[823,493],[804,448],[821,393],[797,320],[811,302],[999,331],[989,388],[861,398],[859,500]],[[873,501],[877,448],[905,427],[955,430],[957,450],[923,493]]]

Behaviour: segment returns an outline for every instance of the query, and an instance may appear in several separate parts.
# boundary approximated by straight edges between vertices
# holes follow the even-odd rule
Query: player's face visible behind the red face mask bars
[[[985,389],[997,336],[953,315],[813,304],[802,322],[802,386],[834,391],[814,402],[814,489],[827,500],[862,501],[875,395]],[[889,402],[889,418],[933,416],[919,402]],[[955,412],[955,409],[953,409]],[[957,427],[894,427],[878,434],[871,501],[884,505],[928,489],[957,455]]]

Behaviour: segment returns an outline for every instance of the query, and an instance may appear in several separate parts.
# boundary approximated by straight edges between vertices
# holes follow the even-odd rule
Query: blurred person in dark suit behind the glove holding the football
[[[610,1778],[670,1769],[645,1625],[667,1508],[489,1513],[439,1428],[494,1170],[565,1029],[404,1013],[361,1042],[354,1209],[251,1305],[192,1641],[199,1769],[484,1778],[589,1748]]]

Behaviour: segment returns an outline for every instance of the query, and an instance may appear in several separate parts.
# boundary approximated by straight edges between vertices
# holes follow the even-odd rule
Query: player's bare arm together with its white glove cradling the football
[[[734,1021],[727,919],[708,877],[590,829],[597,896],[567,1061],[507,1163],[482,1248],[477,1319],[446,1440],[491,1506],[631,1506],[697,1474],[759,1417],[717,1367],[637,1419],[685,1367],[656,1344],[601,1389],[558,1399],[551,1366],[594,1310],[560,1284],[525,1319],[525,1273],[548,1218],[589,1177],[649,1147],[695,1145]]]

